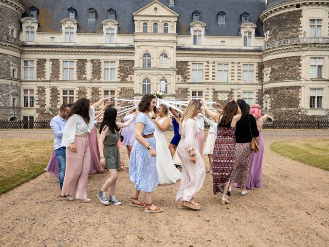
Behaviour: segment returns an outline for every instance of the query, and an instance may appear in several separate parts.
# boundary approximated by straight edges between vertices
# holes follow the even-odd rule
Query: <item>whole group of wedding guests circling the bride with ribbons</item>
[[[105,103],[103,109],[96,112],[95,109],[102,103]],[[222,204],[230,203],[230,184],[241,187],[241,195],[247,193],[246,188],[262,186],[260,130],[265,117],[261,116],[259,105],[250,109],[244,100],[231,100],[224,108],[211,111],[204,99],[201,102],[191,100],[181,114],[173,108],[168,109],[166,104],[156,105],[155,96],[145,94],[137,109],[132,103],[126,105],[127,111],[121,122],[118,112],[122,108],[117,110],[108,98],[92,105],[85,98],[72,105],[63,104],[59,115],[51,120],[61,196],[73,201],[76,189],[78,202],[90,202],[86,190],[89,171],[93,170],[90,164],[92,160],[99,160],[100,167],[108,170],[109,178],[98,191],[97,198],[104,205],[120,205],[121,202],[114,196],[117,171],[122,168],[120,143],[127,148],[130,180],[135,184],[130,205],[142,207],[147,213],[163,211],[162,207],[153,204],[155,187],[178,180],[178,208],[200,209],[195,195],[206,177],[204,154],[209,157],[213,192],[223,193]],[[210,119],[201,113],[202,105]],[[172,119],[168,117],[169,113]],[[90,145],[90,133],[96,133],[94,126],[97,119],[100,123],[99,142],[98,145]],[[163,132],[168,129],[170,121],[174,137],[168,145]],[[210,130],[204,149],[205,122]],[[261,146],[258,153],[253,153],[250,148],[253,137]],[[175,163],[181,165],[181,172]],[[140,191],[145,192],[145,203],[138,199]]]

